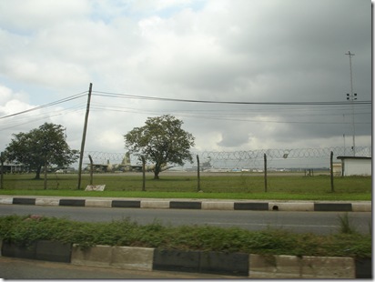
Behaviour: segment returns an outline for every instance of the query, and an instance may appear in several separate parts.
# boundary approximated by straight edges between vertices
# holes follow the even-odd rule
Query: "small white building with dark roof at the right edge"
[[[372,176],[370,156],[338,156],[341,176]]]

